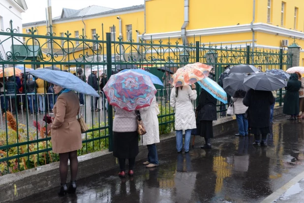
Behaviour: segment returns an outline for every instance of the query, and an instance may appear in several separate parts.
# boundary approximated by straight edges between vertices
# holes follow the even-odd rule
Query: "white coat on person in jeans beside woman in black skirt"
[[[154,96],[150,106],[139,109],[144,128],[147,131],[145,135],[142,135],[143,145],[159,142],[159,126],[155,105],[156,98]]]

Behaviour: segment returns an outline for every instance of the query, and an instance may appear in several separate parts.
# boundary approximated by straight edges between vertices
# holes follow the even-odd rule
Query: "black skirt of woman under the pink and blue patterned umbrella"
[[[113,156],[122,159],[135,158],[138,154],[138,133],[124,132],[114,134]]]

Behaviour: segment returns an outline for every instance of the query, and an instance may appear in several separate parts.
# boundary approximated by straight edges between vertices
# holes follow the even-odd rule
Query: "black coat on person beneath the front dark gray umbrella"
[[[249,127],[265,128],[270,126],[270,106],[275,99],[271,91],[250,89],[246,93],[243,104],[248,106]]]

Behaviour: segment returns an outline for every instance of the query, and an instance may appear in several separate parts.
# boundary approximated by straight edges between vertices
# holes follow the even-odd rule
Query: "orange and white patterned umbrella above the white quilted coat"
[[[175,87],[192,85],[197,81],[208,77],[212,68],[212,66],[198,62],[195,64],[187,64],[186,66],[179,68],[176,73],[172,75],[169,83]]]

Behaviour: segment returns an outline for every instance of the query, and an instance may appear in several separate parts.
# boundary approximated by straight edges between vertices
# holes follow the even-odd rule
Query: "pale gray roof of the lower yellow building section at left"
[[[81,17],[91,17],[91,16],[98,16],[98,15],[105,15],[105,14],[114,14],[117,12],[130,11],[130,10],[143,9],[143,8],[144,8],[144,5],[135,5],[135,6],[125,7],[125,8],[118,8],[118,9],[112,9],[112,8],[107,8],[107,7],[103,7],[103,6],[92,5],[92,6],[80,9],[80,10],[76,10],[76,12],[73,12],[73,11],[75,11],[73,9],[63,8],[62,13],[61,13],[62,17],[57,16],[57,17],[53,18],[53,23],[58,22],[58,21],[67,20],[67,19],[77,19],[77,18],[81,18]],[[64,9],[65,9],[65,11],[64,11]],[[45,23],[46,23],[46,21],[37,21],[37,22],[25,23],[25,24],[22,24],[22,26],[28,27],[28,26],[32,26],[32,25],[45,24]]]

